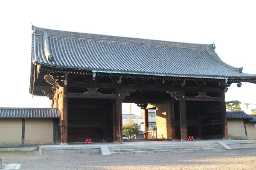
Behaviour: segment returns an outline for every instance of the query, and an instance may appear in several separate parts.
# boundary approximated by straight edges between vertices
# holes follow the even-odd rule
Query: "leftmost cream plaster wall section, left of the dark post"
[[[0,119],[0,144],[21,144],[22,119]]]

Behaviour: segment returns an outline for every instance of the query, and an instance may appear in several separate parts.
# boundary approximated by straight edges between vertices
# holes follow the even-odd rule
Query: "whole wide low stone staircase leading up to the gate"
[[[118,154],[146,154],[146,153],[186,153],[203,151],[226,150],[218,142],[212,143],[183,143],[183,144],[137,144],[108,146],[112,155]]]

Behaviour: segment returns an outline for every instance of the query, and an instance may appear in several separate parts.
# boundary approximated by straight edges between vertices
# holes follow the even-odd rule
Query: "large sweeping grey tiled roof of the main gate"
[[[213,44],[32,29],[32,62],[39,65],[117,74],[256,78],[224,63]]]

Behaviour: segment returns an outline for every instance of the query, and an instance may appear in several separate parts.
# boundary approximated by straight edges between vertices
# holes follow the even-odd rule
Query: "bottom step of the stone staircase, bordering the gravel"
[[[184,150],[151,150],[151,151],[131,151],[131,152],[111,152],[112,155],[124,154],[152,154],[152,153],[187,153],[204,151],[223,151],[226,148],[204,148],[204,149],[184,149]]]

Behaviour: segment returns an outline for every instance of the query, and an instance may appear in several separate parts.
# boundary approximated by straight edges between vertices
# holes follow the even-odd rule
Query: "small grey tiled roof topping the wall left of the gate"
[[[57,108],[0,108],[0,119],[59,118]]]

